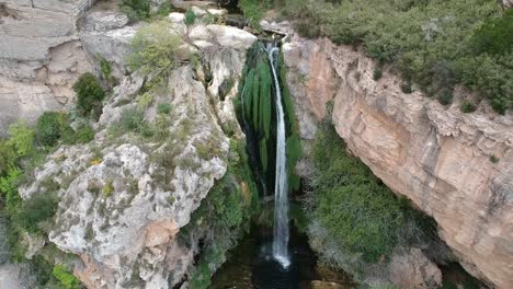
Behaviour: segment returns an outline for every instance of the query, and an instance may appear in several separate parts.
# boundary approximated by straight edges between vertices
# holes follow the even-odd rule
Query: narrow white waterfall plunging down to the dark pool
[[[288,256],[288,188],[287,188],[287,160],[285,139],[285,114],[282,104],[282,92],[276,73],[277,55],[280,48],[276,44],[267,45],[269,61],[273,72],[273,82],[276,102],[276,181],[274,185],[274,239],[273,257],[283,267],[290,265]]]

